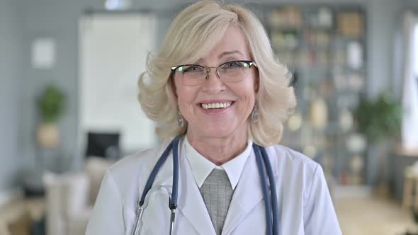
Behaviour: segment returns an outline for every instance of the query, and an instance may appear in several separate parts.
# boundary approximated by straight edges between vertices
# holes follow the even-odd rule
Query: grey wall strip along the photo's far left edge
[[[18,185],[22,163],[18,155],[21,39],[13,0],[0,0],[0,200]]]

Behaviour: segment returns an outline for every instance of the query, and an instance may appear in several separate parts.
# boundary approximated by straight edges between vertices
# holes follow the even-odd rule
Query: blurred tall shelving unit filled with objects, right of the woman
[[[273,50],[293,72],[298,108],[282,144],[320,162],[340,184],[363,183],[353,111],[366,91],[366,11],[356,5],[264,8]]]

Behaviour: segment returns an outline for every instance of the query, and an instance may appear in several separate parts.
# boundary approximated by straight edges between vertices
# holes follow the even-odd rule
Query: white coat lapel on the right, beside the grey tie
[[[239,222],[242,222],[242,219],[264,198],[255,157],[253,150],[244,166],[234,195],[232,195],[222,234],[230,234]]]

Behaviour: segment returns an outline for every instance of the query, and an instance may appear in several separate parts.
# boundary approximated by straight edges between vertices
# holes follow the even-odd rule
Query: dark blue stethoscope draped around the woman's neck
[[[164,150],[162,156],[158,159],[157,164],[155,164],[154,168],[149,175],[147,183],[145,184],[144,191],[142,192],[140,200],[137,202],[137,210],[136,210],[136,217],[135,217],[135,224],[134,229],[132,231],[132,235],[138,235],[140,229],[140,221],[142,218],[142,214],[144,212],[144,205],[145,196],[147,195],[149,189],[151,189],[152,183],[154,183],[155,177],[159,171],[159,168],[164,164],[166,159],[168,158],[171,149],[173,150],[173,188],[171,193],[171,198],[169,199],[169,209],[171,210],[171,217],[170,217],[170,235],[173,235],[174,230],[174,220],[176,217],[176,209],[177,209],[177,196],[178,196],[178,188],[179,188],[179,140],[181,136],[177,136],[171,141],[169,146]],[[257,167],[259,168],[259,173],[261,176],[261,189],[263,190],[264,195],[264,208],[266,209],[266,227],[267,235],[278,235],[278,202],[277,202],[277,194],[276,194],[276,183],[274,182],[273,176],[273,168],[271,168],[271,163],[269,161],[269,156],[267,155],[266,149],[264,147],[260,147],[257,144],[252,145],[254,152],[256,154],[256,162]],[[263,166],[264,165],[264,166]],[[265,167],[265,168],[264,168]],[[267,185],[266,180],[266,171],[267,177],[269,178],[270,183],[270,195],[269,195],[269,186]],[[273,200],[273,198],[275,200]]]

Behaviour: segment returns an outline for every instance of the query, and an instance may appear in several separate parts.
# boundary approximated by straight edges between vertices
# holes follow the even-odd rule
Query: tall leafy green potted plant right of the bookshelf
[[[388,151],[394,147],[395,140],[400,136],[402,105],[395,101],[389,93],[383,92],[373,101],[361,98],[354,117],[359,132],[364,134],[372,150],[369,151],[368,162],[373,162],[370,158],[375,158],[375,162],[378,164],[379,173],[378,176],[375,176],[378,182],[369,183],[378,183],[376,188],[378,195],[387,196],[389,190],[388,182],[385,179],[385,159]],[[369,166],[372,165],[373,163],[369,164]]]

